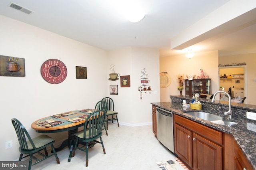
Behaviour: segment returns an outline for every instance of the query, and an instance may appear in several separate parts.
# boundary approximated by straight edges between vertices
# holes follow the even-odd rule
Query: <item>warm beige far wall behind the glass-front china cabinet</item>
[[[209,75],[212,79],[212,93],[218,91],[218,51],[207,51],[196,53],[194,57],[188,59],[185,55],[177,55],[172,57],[160,57],[160,73],[168,72],[172,83],[166,88],[160,88],[161,102],[170,101],[170,95],[180,95],[178,91],[177,75],[194,74],[200,75],[200,69],[204,70],[205,75]],[[186,78],[187,79],[187,78]],[[185,95],[184,89],[182,95]]]

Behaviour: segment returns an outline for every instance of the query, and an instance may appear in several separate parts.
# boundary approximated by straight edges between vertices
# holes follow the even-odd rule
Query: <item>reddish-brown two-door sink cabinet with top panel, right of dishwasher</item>
[[[222,132],[174,115],[174,152],[191,169],[222,169]]]

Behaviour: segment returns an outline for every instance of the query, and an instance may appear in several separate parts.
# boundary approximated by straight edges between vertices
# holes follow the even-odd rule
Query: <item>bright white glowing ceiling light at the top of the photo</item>
[[[130,22],[139,22],[145,17],[142,8],[135,0],[112,0],[112,2]]]

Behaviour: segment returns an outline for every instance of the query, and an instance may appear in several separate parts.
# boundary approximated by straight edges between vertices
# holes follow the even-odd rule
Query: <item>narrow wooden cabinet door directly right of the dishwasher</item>
[[[192,167],[192,132],[180,125],[174,125],[174,152]]]

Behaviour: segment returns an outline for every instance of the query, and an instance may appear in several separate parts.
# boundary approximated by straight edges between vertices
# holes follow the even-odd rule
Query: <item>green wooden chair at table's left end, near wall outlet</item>
[[[19,161],[21,161],[23,158],[26,158],[29,156],[28,170],[30,170],[31,166],[33,166],[34,164],[37,164],[37,163],[41,162],[42,160],[49,158],[52,155],[55,156],[57,163],[60,164],[60,160],[59,160],[59,158],[56,154],[56,151],[54,149],[54,146],[53,146],[53,143],[55,142],[53,138],[51,138],[50,136],[47,136],[45,134],[37,136],[35,138],[31,138],[30,135],[28,134],[28,131],[26,130],[26,128],[16,118],[12,119],[12,125],[16,131],[16,134],[18,136],[18,141],[20,143]],[[48,155],[48,152],[46,150],[47,146],[52,147],[53,154]],[[44,150],[45,154],[40,152],[41,150]],[[26,156],[23,157],[23,154],[26,154]],[[33,154],[39,154],[43,158],[38,159]],[[32,158],[34,160],[36,160],[36,162],[34,162],[33,164],[32,164]]]

